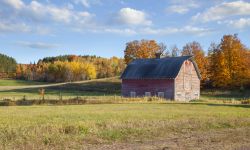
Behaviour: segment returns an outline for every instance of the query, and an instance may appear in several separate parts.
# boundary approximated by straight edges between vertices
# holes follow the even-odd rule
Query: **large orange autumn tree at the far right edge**
[[[249,83],[249,50],[237,35],[224,35],[209,54],[211,81],[215,87],[233,88]]]

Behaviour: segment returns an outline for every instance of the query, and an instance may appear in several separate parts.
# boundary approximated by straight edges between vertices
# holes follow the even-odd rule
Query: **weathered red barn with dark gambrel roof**
[[[121,76],[122,95],[190,101],[200,97],[200,78],[192,56],[136,59]]]

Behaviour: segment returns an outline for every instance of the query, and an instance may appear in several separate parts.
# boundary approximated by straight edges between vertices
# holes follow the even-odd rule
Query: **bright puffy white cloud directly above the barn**
[[[132,9],[132,8],[122,8],[118,12],[115,19],[120,24],[125,25],[151,25],[152,21],[147,19],[147,14],[143,11]]]

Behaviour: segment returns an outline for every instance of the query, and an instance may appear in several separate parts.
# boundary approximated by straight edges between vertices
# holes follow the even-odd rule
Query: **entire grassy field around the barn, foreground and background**
[[[250,149],[250,105],[237,103],[248,91],[204,91],[199,101],[174,103],[123,99],[120,87],[117,78],[0,86],[0,101],[39,100],[44,88],[45,99],[114,103],[0,106],[0,149]]]

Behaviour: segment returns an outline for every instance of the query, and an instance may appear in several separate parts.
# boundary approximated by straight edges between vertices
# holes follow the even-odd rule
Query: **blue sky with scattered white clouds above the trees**
[[[18,63],[64,54],[123,57],[156,40],[207,51],[225,34],[250,47],[250,0],[0,0],[0,53]]]

